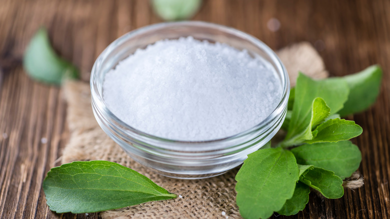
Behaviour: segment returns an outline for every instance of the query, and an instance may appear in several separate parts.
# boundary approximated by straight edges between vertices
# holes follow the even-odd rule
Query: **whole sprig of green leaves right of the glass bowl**
[[[361,161],[359,148],[349,139],[362,128],[340,115],[368,108],[379,93],[381,76],[377,65],[323,80],[299,73],[282,125],[284,140],[249,154],[235,177],[244,218],[296,214],[308,202],[310,187],[326,198],[342,197],[342,179]]]

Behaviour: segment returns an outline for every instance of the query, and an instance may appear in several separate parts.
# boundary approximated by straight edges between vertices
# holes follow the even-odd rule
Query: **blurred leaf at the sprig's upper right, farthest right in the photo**
[[[343,78],[348,83],[350,92],[348,100],[338,113],[341,116],[346,116],[363,111],[375,102],[379,94],[382,69],[378,65],[372,65]]]

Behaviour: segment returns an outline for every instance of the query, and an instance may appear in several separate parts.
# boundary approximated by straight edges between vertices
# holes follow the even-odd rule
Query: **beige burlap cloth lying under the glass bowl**
[[[298,71],[313,78],[327,77],[323,61],[308,42],[301,42],[277,52],[284,63],[291,84]],[[91,109],[90,88],[85,82],[67,82],[63,86],[67,100],[70,139],[62,163],[75,160],[109,160],[127,166],[177,194],[177,198],[151,201],[101,212],[102,218],[241,218],[235,204],[235,168],[212,178],[183,180],[159,175],[132,160],[97,124]],[[179,196],[180,195],[180,196]],[[224,211],[225,215],[222,215]]]

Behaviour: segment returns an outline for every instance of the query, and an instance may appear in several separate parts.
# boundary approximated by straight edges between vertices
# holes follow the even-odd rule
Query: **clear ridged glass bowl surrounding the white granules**
[[[177,141],[153,136],[117,118],[104,103],[102,96],[105,73],[137,48],[145,48],[160,39],[177,39],[181,36],[226,43],[267,60],[280,79],[282,88],[277,107],[263,121],[248,130],[207,141]],[[93,64],[90,88],[93,114],[97,122],[131,158],[165,176],[195,179],[219,175],[240,165],[247,154],[271,139],[285,117],[289,79],[276,54],[257,38],[218,24],[181,21],[145,26],[113,41]]]

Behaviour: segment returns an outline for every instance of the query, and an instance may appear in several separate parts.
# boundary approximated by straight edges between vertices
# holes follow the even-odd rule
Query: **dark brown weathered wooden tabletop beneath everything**
[[[193,18],[243,30],[273,49],[309,41],[334,76],[375,63],[384,70],[376,104],[349,117],[363,128],[354,143],[362,152],[364,187],[334,200],[311,194],[304,211],[291,218],[390,217],[389,11],[390,0],[204,0]],[[275,32],[266,25],[272,17],[281,23]],[[56,214],[45,203],[42,180],[58,164],[68,137],[66,104],[58,87],[24,73],[21,57],[31,35],[45,26],[54,48],[88,80],[111,41],[156,22],[161,20],[147,0],[0,0],[1,218],[98,217]]]

